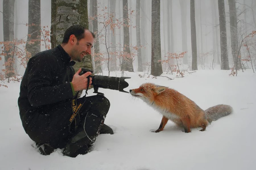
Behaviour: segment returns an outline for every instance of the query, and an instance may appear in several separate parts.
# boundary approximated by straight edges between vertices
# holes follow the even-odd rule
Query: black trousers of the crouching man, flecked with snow
[[[66,147],[77,153],[79,147],[93,145],[99,133],[113,134],[104,125],[109,108],[109,100],[102,95],[59,103],[35,113],[26,133],[35,142],[49,143],[54,148]],[[75,115],[76,110],[79,111]]]

